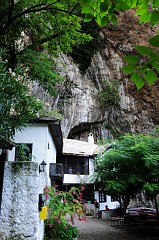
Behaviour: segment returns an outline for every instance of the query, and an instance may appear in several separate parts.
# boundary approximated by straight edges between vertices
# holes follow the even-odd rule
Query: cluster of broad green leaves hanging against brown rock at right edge
[[[149,39],[151,45],[158,46],[159,36]],[[128,55],[124,60],[128,65],[121,70],[131,75],[131,80],[136,84],[137,89],[144,86],[144,82],[153,84],[159,77],[159,53],[147,46],[135,47],[139,56]]]

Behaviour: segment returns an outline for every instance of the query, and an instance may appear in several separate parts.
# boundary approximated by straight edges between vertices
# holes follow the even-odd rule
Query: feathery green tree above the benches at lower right
[[[159,137],[125,135],[96,158],[96,177],[107,193],[118,195],[124,208],[142,190],[149,197],[159,192]],[[157,205],[156,205],[157,207]]]

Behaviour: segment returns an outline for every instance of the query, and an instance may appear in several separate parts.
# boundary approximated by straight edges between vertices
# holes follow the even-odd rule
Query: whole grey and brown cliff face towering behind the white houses
[[[101,31],[104,44],[84,74],[71,57],[62,55],[57,68],[65,81],[56,99],[44,94],[43,99],[63,114],[61,125],[65,138],[86,140],[90,132],[95,140],[111,138],[116,133],[146,133],[159,123],[159,83],[145,85],[137,91],[120,71],[123,56],[133,53],[134,45],[146,44],[155,31],[147,24],[139,25],[133,12],[122,13],[118,26],[109,25]],[[103,91],[103,83],[115,84],[117,79],[117,106],[102,106],[98,93]]]

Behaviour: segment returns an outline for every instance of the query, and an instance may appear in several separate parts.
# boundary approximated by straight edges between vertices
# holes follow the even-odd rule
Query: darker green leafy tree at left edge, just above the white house
[[[6,70],[7,60],[0,60],[0,139],[9,140],[28,120],[37,117],[42,103],[28,92],[27,72],[21,67]]]

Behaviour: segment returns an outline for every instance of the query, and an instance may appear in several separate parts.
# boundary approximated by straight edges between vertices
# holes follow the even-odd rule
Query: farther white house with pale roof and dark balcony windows
[[[59,185],[61,190],[69,190],[72,186],[84,185],[84,200],[94,204],[96,199],[100,203],[100,210],[116,208],[119,203],[116,199],[106,194],[106,192],[95,183],[94,179],[94,158],[103,151],[97,144],[73,139],[63,139],[63,154],[57,158],[57,163],[63,165],[64,179],[63,185]],[[70,172],[70,167],[72,171]],[[56,182],[56,177],[53,177]]]

